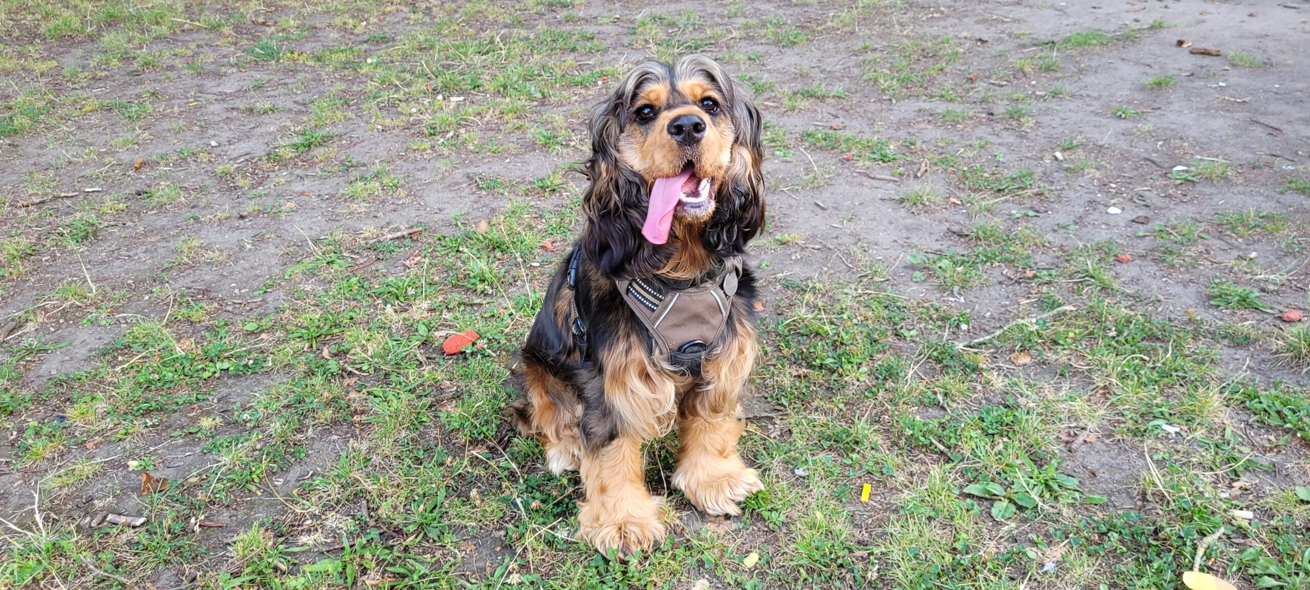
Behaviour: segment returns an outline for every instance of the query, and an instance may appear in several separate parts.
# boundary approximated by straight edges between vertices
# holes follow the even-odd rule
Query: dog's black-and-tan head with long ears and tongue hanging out
[[[679,248],[739,256],[764,223],[760,111],[714,60],[646,62],[591,118],[583,246],[610,277]]]

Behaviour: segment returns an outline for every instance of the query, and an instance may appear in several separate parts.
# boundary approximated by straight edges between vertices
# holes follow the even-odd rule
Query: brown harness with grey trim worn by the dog
[[[569,286],[576,279],[579,252],[569,262]],[[718,341],[732,311],[741,258],[723,260],[722,267],[697,285],[676,285],[660,278],[614,281],[627,307],[651,333],[659,357],[676,368],[700,372],[701,361]],[[576,307],[576,303],[574,304]],[[587,328],[574,309],[572,333],[586,357]]]

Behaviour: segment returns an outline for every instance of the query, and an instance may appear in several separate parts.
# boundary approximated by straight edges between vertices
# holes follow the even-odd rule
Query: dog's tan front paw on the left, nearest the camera
[[[663,511],[650,496],[626,502],[584,502],[578,511],[578,523],[579,538],[604,555],[614,549],[617,557],[650,552],[665,535]]]

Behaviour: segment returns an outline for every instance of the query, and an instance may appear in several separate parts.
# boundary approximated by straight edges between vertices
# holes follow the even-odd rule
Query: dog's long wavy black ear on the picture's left
[[[646,182],[618,153],[633,96],[651,79],[660,77],[663,67],[643,63],[634,68],[591,115],[591,157],[584,164],[591,185],[582,202],[587,216],[582,248],[613,279],[654,274],[668,258],[668,245],[651,244],[641,235],[648,198]]]

